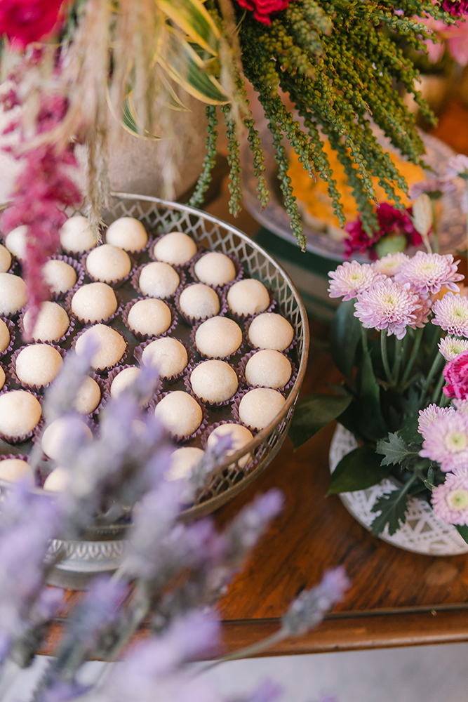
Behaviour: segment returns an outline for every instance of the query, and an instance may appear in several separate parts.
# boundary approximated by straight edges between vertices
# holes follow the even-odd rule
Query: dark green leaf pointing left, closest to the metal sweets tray
[[[305,444],[314,434],[345,411],[351,399],[351,395],[336,397],[320,393],[300,399],[295,406],[289,430],[294,450]]]

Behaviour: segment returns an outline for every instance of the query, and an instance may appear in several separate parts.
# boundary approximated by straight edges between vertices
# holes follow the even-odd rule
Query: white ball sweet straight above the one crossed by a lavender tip
[[[209,404],[227,402],[239,387],[236,371],[225,361],[199,363],[190,373],[190,385],[196,397]]]

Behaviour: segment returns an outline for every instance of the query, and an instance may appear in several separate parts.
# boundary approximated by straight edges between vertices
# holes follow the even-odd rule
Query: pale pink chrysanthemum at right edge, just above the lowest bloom
[[[468,467],[468,415],[446,412],[431,423],[420,450],[422,458],[440,463],[441,470],[466,470]]]

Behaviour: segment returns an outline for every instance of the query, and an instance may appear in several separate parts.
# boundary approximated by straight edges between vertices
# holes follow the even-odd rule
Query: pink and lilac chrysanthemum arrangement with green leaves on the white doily
[[[346,379],[339,396],[298,404],[295,446],[337,418],[359,446],[337,465],[328,494],[392,476],[399,489],[373,505],[373,534],[395,534],[417,495],[468,541],[468,298],[457,263],[399,252],[329,276],[330,297],[343,300],[330,352]]]

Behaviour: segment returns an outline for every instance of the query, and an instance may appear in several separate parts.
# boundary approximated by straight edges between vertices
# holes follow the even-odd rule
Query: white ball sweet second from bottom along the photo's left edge
[[[27,390],[11,390],[0,395],[0,433],[19,439],[26,437],[41,419],[41,404]]]

